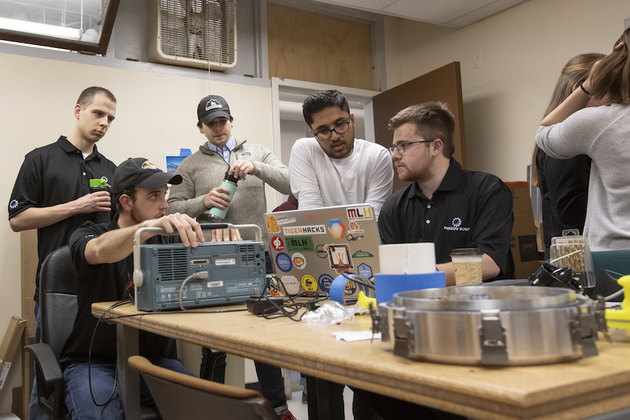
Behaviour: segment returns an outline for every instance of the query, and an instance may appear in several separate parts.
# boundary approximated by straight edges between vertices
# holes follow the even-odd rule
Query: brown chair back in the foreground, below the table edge
[[[164,420],[279,420],[258,391],[173,372],[142,356],[130,357],[129,364],[142,374]]]

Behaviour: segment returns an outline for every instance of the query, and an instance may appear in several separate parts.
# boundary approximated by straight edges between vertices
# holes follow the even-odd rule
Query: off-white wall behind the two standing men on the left
[[[99,62],[97,57],[94,60]],[[162,167],[164,152],[197,150],[204,141],[197,130],[197,104],[209,93],[228,100],[237,139],[274,149],[270,87],[0,53],[0,133],[5,155],[0,167],[4,180],[0,202],[8,204],[26,153],[56,141],[60,134],[69,134],[76,99],[91,85],[108,88],[118,99],[116,120],[98,144],[99,151],[117,165],[130,157],[144,157]],[[269,190],[267,199],[273,209],[275,195]],[[0,339],[10,316],[21,314],[20,234],[9,228],[6,206],[2,213]],[[10,412],[10,389],[20,386],[20,381],[16,363],[0,391],[0,414]]]

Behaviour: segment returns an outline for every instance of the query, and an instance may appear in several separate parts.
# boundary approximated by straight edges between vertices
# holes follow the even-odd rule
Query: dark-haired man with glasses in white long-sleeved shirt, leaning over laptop
[[[393,183],[387,149],[354,138],[354,115],[337,90],[311,94],[302,111],[314,137],[291,149],[289,178],[300,210],[370,203],[378,217]]]

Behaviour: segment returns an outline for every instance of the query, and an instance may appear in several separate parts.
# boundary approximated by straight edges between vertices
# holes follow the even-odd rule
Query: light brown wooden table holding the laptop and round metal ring
[[[93,304],[92,314],[101,316],[110,305]],[[221,309],[239,307],[244,305]],[[110,313],[139,312],[128,304]],[[586,419],[630,406],[630,344],[623,331],[613,332],[612,343],[597,343],[599,356],[572,363],[474,367],[408,360],[394,356],[379,340],[344,342],[331,334],[369,330],[367,315],[328,328],[287,318],[267,320],[247,311],[196,314],[191,310],[113,321],[118,323],[123,370],[127,357],[137,353],[134,339],[137,342],[139,328],[472,419]],[[137,375],[123,380],[121,388],[137,386]],[[130,405],[127,420],[136,418],[132,407],[136,403],[125,404]]]

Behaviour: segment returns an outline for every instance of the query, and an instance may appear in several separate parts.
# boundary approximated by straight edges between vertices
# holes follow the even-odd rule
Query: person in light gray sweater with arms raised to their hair
[[[591,251],[630,249],[630,28],[587,80],[540,123],[538,146],[552,158],[589,155],[584,235]],[[584,109],[591,97],[605,106]]]

